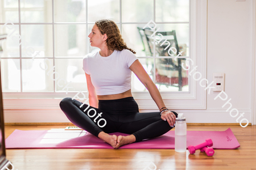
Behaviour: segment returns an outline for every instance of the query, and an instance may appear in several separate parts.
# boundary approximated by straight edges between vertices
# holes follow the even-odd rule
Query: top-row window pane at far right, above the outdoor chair
[[[156,0],[156,22],[189,22],[189,0]]]

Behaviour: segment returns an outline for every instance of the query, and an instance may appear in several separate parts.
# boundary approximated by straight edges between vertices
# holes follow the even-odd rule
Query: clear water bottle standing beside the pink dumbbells
[[[175,123],[175,151],[187,150],[187,124],[183,113],[179,113]]]

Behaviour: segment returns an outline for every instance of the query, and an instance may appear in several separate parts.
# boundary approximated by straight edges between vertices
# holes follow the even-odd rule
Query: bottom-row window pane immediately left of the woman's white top
[[[79,59],[55,59],[56,74],[55,87],[57,92],[66,92],[63,89],[67,84],[69,91],[87,91],[86,77],[82,70],[82,58]],[[68,83],[71,82],[71,83]]]

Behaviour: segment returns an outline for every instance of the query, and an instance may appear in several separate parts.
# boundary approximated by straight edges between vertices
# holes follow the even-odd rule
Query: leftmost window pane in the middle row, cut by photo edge
[[[19,57],[19,25],[5,25],[0,29],[0,33],[7,33],[8,35],[6,41],[3,42],[1,57]]]

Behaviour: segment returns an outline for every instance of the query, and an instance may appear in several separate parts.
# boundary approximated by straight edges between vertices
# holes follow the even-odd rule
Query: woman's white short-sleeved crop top
[[[120,94],[131,89],[131,70],[129,67],[138,59],[128,49],[114,50],[108,57],[99,52],[87,54],[82,69],[90,75],[97,95]]]

